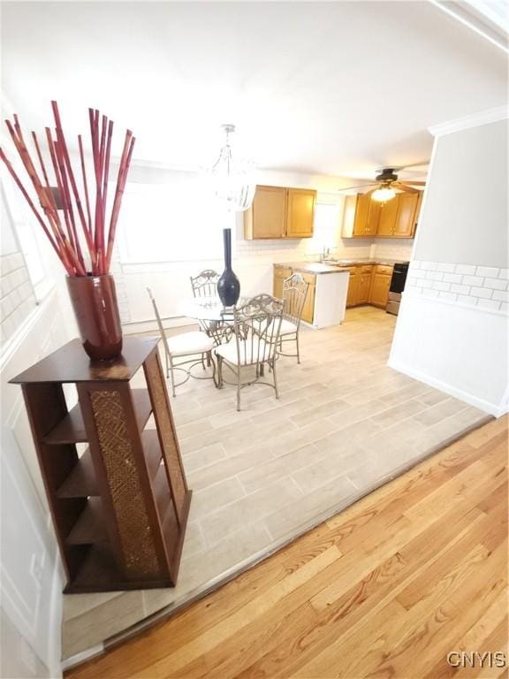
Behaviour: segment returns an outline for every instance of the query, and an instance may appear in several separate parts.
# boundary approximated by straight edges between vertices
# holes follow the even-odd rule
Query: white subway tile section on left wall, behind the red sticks
[[[34,288],[20,252],[0,256],[0,305],[0,331],[5,342],[36,306]]]

